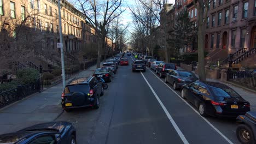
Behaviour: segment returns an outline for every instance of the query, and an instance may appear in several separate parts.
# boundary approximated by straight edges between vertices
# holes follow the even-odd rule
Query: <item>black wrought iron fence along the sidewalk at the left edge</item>
[[[0,93],[0,108],[40,91],[40,80]]]

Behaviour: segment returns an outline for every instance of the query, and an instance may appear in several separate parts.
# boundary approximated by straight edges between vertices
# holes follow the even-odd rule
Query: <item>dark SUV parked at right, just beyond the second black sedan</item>
[[[174,63],[160,63],[156,68],[156,74],[159,74],[159,77],[165,77],[170,70],[177,69]]]

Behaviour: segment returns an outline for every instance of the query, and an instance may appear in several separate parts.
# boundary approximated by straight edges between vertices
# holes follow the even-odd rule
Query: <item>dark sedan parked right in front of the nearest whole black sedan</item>
[[[172,70],[166,74],[165,82],[171,83],[174,89],[181,88],[186,83],[191,83],[198,80],[197,77],[187,70]]]

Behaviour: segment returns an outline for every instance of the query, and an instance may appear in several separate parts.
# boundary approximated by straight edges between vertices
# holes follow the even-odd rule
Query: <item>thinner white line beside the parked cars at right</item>
[[[148,69],[152,74],[154,74],[149,68],[147,68],[147,69]],[[155,74],[154,74],[154,75],[155,75]],[[178,95],[178,97],[179,97],[180,99],[182,99],[189,107],[191,107],[191,109],[193,109],[193,110],[197,113],[197,115],[199,115],[203,120],[205,120],[205,122],[208,123],[214,130],[216,130],[216,132],[217,132],[220,136],[222,136],[228,143],[233,144],[233,142],[231,142],[231,141],[228,139],[228,137],[226,137],[224,134],[222,134],[222,132],[220,132],[216,127],[214,127],[214,125],[213,125],[211,122],[209,122],[205,117],[202,117],[202,116],[200,115],[200,113],[199,113],[197,110],[195,110],[194,107],[191,106],[187,101],[185,101],[177,92],[175,92],[170,86],[168,86],[164,81],[162,81],[157,75],[155,75],[155,76],[156,76],[162,83],[164,83],[168,88],[170,88],[173,93],[175,93],[176,95]]]

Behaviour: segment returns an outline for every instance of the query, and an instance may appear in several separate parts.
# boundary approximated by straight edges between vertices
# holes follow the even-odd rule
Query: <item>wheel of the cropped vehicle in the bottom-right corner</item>
[[[236,136],[241,143],[255,143],[253,131],[246,124],[238,125]]]

